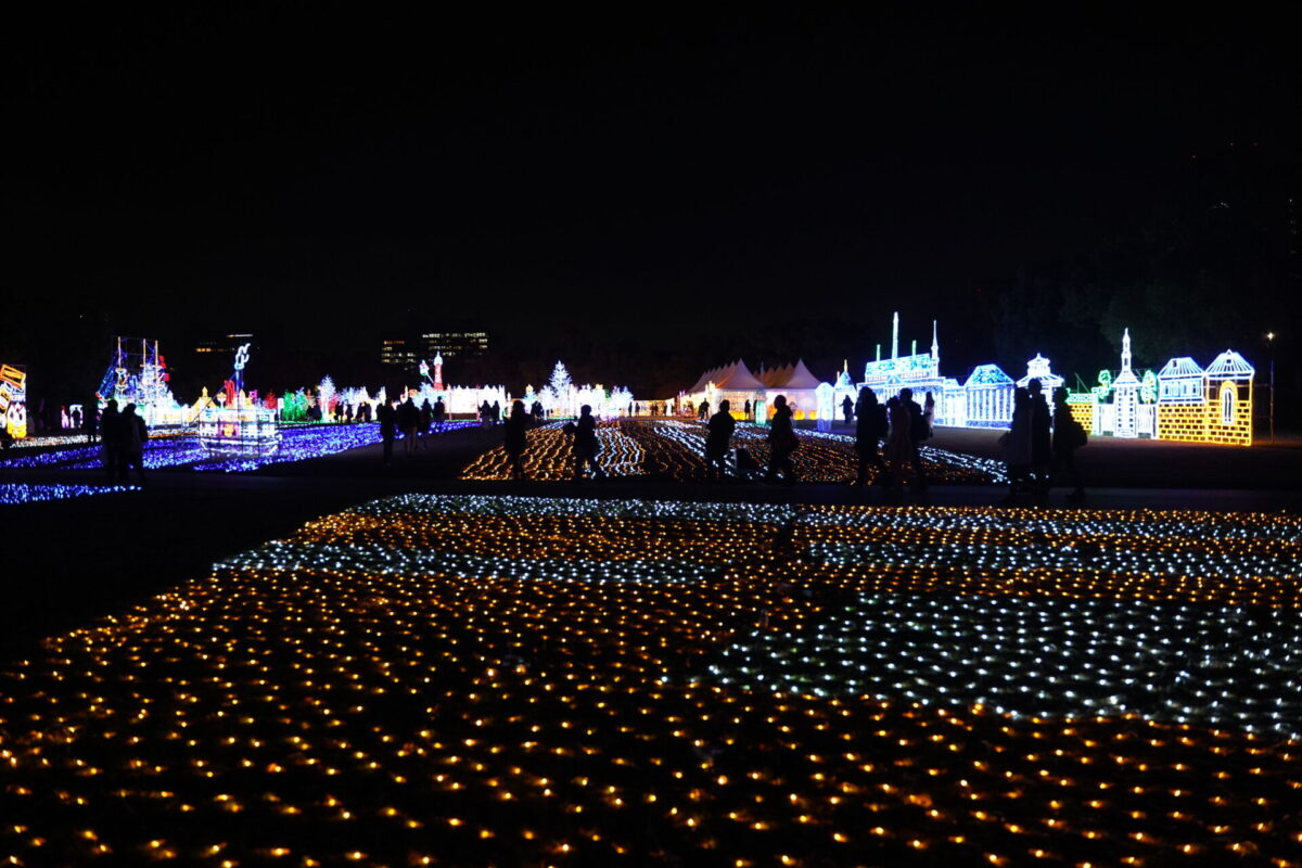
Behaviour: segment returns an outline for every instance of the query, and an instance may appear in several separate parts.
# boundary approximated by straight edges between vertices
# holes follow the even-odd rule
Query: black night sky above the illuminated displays
[[[862,364],[900,308],[954,368],[1021,328],[1096,370],[1113,275],[1233,286],[1249,311],[1180,354],[1260,357],[1298,323],[1302,77],[1282,16],[1233,12],[30,12],[4,36],[0,350],[49,384],[102,334],[251,328],[348,366],[461,321],[508,385],[569,350],[660,390],[733,351]],[[1207,250],[1221,204],[1249,241],[1135,264]],[[1046,282],[1068,301],[999,312]]]

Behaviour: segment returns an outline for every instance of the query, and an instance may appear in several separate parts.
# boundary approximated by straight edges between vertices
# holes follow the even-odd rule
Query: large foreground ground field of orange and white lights
[[[1299,544],[1264,514],[376,501],[8,668],[0,858],[1298,864]]]

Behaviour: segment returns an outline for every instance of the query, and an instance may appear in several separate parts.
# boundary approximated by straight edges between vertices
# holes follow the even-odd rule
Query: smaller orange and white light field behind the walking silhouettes
[[[561,480],[574,475],[572,437],[562,423],[551,422],[529,432],[525,474],[534,480]],[[682,419],[620,419],[598,426],[602,445],[598,463],[609,476],[655,476],[661,479],[703,479],[707,427]],[[743,446],[760,467],[768,463],[768,428],[738,424],[733,446]],[[793,461],[802,481],[844,483],[858,472],[854,437],[796,432],[801,441]],[[1001,462],[922,446],[928,480],[987,484],[1006,481]],[[874,472],[868,470],[870,481]],[[462,479],[510,479],[510,461],[503,446],[479,455],[461,472]]]

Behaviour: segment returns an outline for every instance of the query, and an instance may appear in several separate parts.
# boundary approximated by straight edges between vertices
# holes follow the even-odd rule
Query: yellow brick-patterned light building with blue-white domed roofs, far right
[[[1251,446],[1254,373],[1234,350],[1206,371],[1189,357],[1170,359],[1157,372],[1157,436]]]

